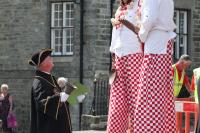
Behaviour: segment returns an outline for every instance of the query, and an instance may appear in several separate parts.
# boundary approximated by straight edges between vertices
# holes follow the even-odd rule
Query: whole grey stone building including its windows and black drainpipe
[[[19,133],[29,132],[30,90],[34,69],[31,54],[53,48],[53,73],[90,88],[82,113],[92,104],[93,80],[110,67],[110,18],[116,0],[0,0],[0,84],[7,83],[15,102]],[[178,37],[175,59],[192,56],[200,65],[200,0],[175,0]],[[79,130],[79,110],[71,107],[73,129]]]

